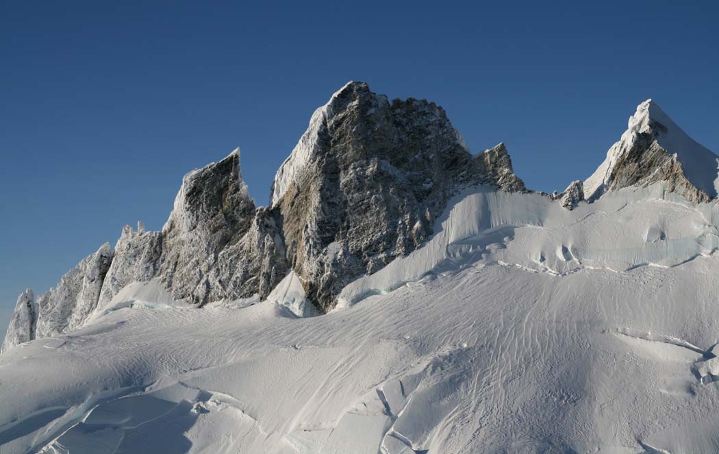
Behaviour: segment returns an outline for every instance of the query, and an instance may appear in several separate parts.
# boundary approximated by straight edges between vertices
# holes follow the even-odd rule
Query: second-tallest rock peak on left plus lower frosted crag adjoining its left
[[[236,149],[183,178],[162,232],[124,228],[98,306],[105,308],[129,283],[152,278],[175,299],[198,306],[264,298],[286,273],[277,221],[249,198]]]

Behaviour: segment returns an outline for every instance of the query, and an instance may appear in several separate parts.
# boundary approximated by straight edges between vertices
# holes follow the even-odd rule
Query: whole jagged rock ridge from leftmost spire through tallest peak
[[[188,173],[162,231],[126,226],[114,250],[82,260],[37,306],[23,294],[6,344],[75,330],[150,280],[203,306],[265,299],[284,279],[294,312],[315,314],[308,301],[326,311],[349,281],[418,248],[448,199],[478,184],[525,190],[503,144],[473,156],[436,104],[390,103],[348,83],[313,114],[270,206],[249,198],[239,149]]]

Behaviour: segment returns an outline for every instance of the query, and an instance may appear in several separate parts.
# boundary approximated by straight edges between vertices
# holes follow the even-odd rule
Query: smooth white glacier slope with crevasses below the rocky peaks
[[[0,453],[719,452],[719,209],[661,194],[468,191],[320,317],[136,286],[0,356]]]

